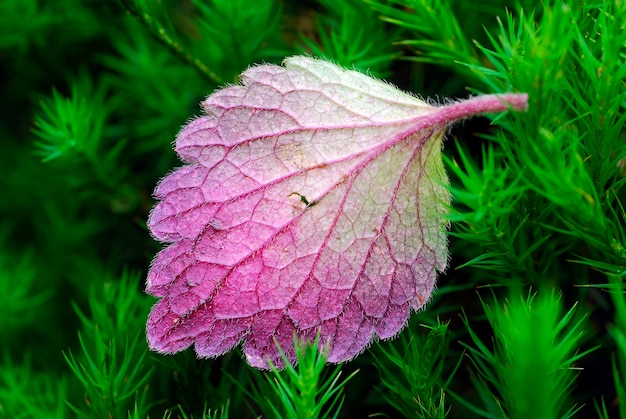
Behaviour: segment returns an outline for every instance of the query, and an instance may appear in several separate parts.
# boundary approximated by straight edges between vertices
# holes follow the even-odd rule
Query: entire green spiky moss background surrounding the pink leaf
[[[626,418],[624,22],[623,1],[0,2],[0,417]],[[145,220],[176,132],[303,52],[424,95],[529,94],[447,143],[425,326],[344,366],[149,352]]]

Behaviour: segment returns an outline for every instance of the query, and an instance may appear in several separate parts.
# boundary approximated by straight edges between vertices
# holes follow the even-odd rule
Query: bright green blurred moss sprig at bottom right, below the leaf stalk
[[[590,352],[576,353],[584,317],[576,317],[575,307],[562,314],[560,298],[547,292],[483,306],[495,342],[490,349],[466,321],[479,373],[473,381],[487,409],[472,410],[493,418],[573,417],[576,406],[566,403],[574,364]]]

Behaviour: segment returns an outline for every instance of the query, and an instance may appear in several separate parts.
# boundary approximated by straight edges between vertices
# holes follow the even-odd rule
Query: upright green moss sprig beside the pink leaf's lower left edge
[[[137,304],[145,301],[132,286],[138,279],[125,272],[118,281],[92,288],[89,315],[76,308],[87,339],[79,335],[80,354],[69,350],[65,359],[85,389],[84,405],[71,406],[78,417],[124,417],[133,406],[145,417],[151,407],[142,331],[148,307]]]

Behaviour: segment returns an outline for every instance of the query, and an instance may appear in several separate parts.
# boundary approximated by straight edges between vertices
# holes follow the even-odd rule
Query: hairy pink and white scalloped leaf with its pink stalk
[[[448,260],[441,160],[457,119],[524,109],[527,96],[431,106],[367,75],[307,57],[261,65],[213,93],[179,133],[187,165],[164,178],[148,222],[172,243],[147,292],[158,352],[250,365],[295,359],[294,334],[349,360],[395,336]]]

